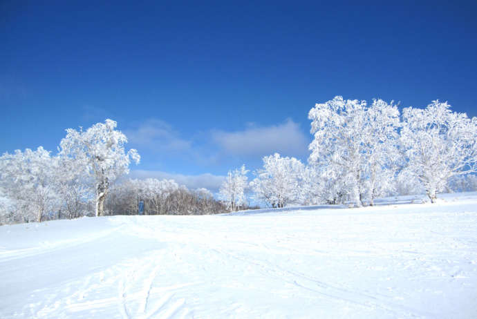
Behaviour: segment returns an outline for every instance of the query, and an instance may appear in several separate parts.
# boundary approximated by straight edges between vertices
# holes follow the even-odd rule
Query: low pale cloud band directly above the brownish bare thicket
[[[217,192],[221,187],[225,176],[212,175],[210,173],[200,175],[183,175],[176,173],[166,173],[161,171],[134,170],[128,175],[129,178],[157,178],[158,180],[175,180],[180,185],[187,186],[188,189],[198,189],[204,187],[209,191]]]

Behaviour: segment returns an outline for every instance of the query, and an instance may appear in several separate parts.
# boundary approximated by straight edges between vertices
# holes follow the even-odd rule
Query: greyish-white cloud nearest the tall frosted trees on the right
[[[300,156],[308,152],[309,144],[299,124],[291,119],[273,126],[250,126],[244,131],[214,131],[212,137],[231,155],[264,156],[278,152],[285,156]]]

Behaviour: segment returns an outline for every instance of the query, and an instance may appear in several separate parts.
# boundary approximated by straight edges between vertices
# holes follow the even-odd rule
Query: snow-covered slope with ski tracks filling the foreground
[[[0,318],[477,318],[477,193],[442,198],[1,226]]]

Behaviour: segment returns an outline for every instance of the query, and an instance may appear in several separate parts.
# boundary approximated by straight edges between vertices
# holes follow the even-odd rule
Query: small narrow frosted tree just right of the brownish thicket
[[[240,169],[229,171],[219,189],[218,195],[230,211],[236,211],[239,206],[247,203],[244,193],[247,187],[247,173],[245,165],[242,165]]]

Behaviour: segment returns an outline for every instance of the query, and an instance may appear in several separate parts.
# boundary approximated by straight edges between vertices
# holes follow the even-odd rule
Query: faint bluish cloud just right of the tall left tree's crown
[[[148,119],[134,129],[124,130],[129,142],[134,146],[147,147],[153,151],[189,151],[191,142],[160,119]]]

